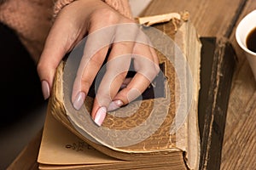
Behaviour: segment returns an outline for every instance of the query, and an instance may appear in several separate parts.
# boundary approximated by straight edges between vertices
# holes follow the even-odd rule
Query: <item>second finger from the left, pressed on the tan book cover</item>
[[[108,25],[108,20],[107,22],[94,22],[93,20],[90,22],[88,36],[85,37],[84,54],[73,83],[72,102],[73,107],[77,110],[84,104],[85,96],[88,94],[113,41],[115,26]]]

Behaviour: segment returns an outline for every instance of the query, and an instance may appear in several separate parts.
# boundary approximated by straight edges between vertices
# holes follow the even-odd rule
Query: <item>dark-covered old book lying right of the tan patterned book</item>
[[[224,37],[201,37],[200,169],[219,169],[236,53]]]

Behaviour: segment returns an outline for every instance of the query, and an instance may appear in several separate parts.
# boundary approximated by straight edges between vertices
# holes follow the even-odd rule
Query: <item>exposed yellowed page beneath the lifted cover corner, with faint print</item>
[[[54,165],[99,164],[121,162],[86,144],[63,127],[48,111],[38,162]]]

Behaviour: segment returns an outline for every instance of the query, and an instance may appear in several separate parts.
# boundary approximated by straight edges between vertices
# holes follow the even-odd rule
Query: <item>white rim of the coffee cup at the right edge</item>
[[[246,16],[244,16],[241,21],[238,23],[238,26],[236,27],[236,42],[239,44],[239,46],[245,50],[248,54],[252,54],[252,55],[256,55],[255,52],[249,50],[246,45],[244,45],[242,42],[241,42],[241,37],[240,35],[238,34],[239,31],[241,30],[241,26],[244,24],[244,22],[247,21],[247,19],[249,17],[251,17],[252,14],[255,14],[256,16],[256,9],[254,9],[253,11],[251,11],[250,13],[248,13]],[[255,25],[255,28],[256,28],[256,25]]]

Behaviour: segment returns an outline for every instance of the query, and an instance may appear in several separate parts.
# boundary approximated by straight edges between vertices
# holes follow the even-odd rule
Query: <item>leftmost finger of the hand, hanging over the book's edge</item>
[[[55,70],[60,64],[61,59],[71,48],[69,29],[61,20],[56,20],[54,26],[49,31],[49,36],[44,44],[43,52],[38,61],[38,76],[42,83],[44,99],[48,99],[50,89],[55,77]],[[63,37],[63,35],[67,35]]]

